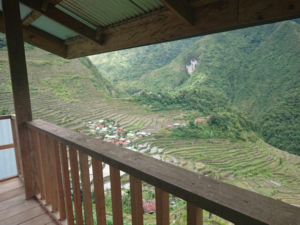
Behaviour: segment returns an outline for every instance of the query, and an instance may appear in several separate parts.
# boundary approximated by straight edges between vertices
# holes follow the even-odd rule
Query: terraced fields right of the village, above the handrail
[[[300,207],[300,157],[262,140],[138,140],[139,152]]]

